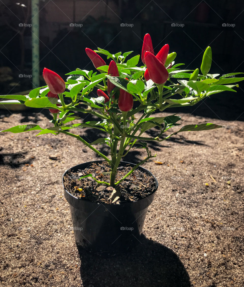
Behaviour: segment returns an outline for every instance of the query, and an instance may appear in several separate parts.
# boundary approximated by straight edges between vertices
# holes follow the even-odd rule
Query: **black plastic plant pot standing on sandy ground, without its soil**
[[[78,164],[69,170],[74,172],[83,170],[93,162],[99,163],[102,162],[102,160]],[[132,167],[134,166],[134,164],[129,162],[121,162],[120,166],[128,164]],[[153,176],[149,170],[143,167],[139,167],[139,169]],[[69,170],[65,171],[63,178]],[[155,177],[154,180],[156,191],[158,182]],[[145,221],[147,208],[154,199],[155,191],[138,201],[118,205],[97,204],[78,199],[65,189],[64,195],[70,204],[73,230],[77,245],[81,245],[91,252],[101,253],[103,255],[118,251],[123,252],[136,246],[140,243],[140,234]]]

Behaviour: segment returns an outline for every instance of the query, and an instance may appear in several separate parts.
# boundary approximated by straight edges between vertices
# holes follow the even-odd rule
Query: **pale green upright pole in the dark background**
[[[31,1],[32,17],[32,88],[40,86],[40,66],[39,66],[39,0]]]

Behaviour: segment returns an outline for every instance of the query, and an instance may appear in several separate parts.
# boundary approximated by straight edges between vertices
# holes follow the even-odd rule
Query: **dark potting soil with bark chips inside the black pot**
[[[124,177],[131,169],[132,167],[129,166],[129,164],[128,166],[119,166],[116,181]],[[77,170],[77,172],[69,170],[69,173],[64,177],[64,186],[69,193],[77,198],[94,203],[120,204],[137,201],[150,195],[156,189],[154,178],[136,169],[119,184],[119,188],[116,188],[116,190],[118,190],[116,196],[119,195],[119,199],[114,201],[109,199],[114,190],[113,187],[106,184],[99,184],[92,177],[80,179],[80,177],[86,174],[92,174],[92,177],[95,177],[98,181],[109,182],[110,166],[107,162],[92,163],[84,170]],[[78,189],[80,189],[80,191]]]

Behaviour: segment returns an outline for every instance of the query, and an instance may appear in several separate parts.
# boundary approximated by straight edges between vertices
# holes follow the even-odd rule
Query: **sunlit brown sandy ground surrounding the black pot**
[[[3,111],[1,129],[28,123],[45,128],[51,119],[46,115]],[[170,113],[157,116],[165,115]],[[243,287],[244,123],[181,116],[183,125],[227,128],[149,143],[157,158],[143,167],[159,188],[139,245],[110,259],[77,249],[63,195],[63,172],[99,159],[96,154],[65,135],[0,133],[0,285]],[[102,136],[90,129],[75,133],[89,142]],[[106,147],[96,147],[109,156]],[[136,149],[124,161],[137,163],[145,156]]]

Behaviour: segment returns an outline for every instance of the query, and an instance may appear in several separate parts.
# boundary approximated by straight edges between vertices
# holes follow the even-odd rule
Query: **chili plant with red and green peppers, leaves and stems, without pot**
[[[241,73],[209,73],[212,63],[212,51],[207,47],[199,69],[181,68],[184,64],[175,63],[176,53],[169,53],[169,45],[164,45],[155,55],[149,34],[144,37],[142,55],[130,57],[133,51],[110,53],[101,48],[85,49],[95,71],[77,68],[67,73],[64,81],[54,71],[44,68],[43,78],[46,86],[32,90],[28,95],[3,95],[0,104],[25,104],[28,107],[49,109],[53,114],[50,127],[42,128],[36,124],[17,125],[3,131],[21,133],[39,131],[37,135],[51,133],[55,136],[65,134],[81,141],[97,153],[111,167],[110,181],[93,179],[98,184],[118,186],[138,166],[155,157],[147,147],[148,141],[161,142],[184,131],[204,131],[222,126],[214,123],[197,125],[179,125],[180,117],[170,115],[155,117],[157,111],[175,107],[193,106],[206,97],[223,91],[236,92],[233,88],[244,77],[233,77]],[[106,61],[101,58],[103,55]],[[96,95],[97,94],[97,95]],[[96,120],[69,123],[79,120],[79,115],[91,114]],[[136,115],[137,114],[137,115]],[[88,127],[105,132],[92,143],[75,133],[79,127]],[[145,136],[145,132],[158,127],[155,137]],[[167,136],[168,129],[173,132]],[[106,156],[95,144],[108,145],[110,156]],[[147,157],[138,162],[124,177],[116,180],[120,161],[133,148],[143,148]],[[91,174],[89,174],[91,176]]]

